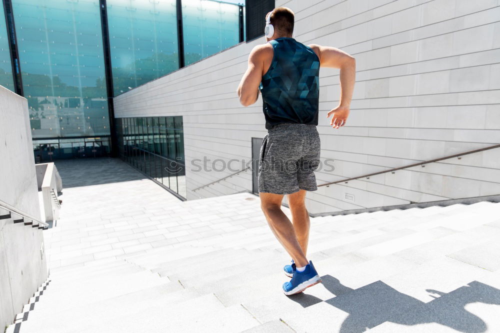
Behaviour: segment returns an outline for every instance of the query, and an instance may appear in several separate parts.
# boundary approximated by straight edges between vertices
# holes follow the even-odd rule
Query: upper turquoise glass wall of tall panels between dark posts
[[[13,22],[0,20],[0,84],[15,91],[19,83],[7,38],[15,29],[33,139],[109,137],[106,84],[123,93],[237,44],[243,31],[239,1],[181,0],[181,36],[176,0],[107,0],[105,10],[98,0],[5,1]]]

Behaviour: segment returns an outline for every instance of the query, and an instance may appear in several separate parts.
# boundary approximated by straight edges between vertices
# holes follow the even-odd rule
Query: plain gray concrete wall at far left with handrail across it
[[[0,86],[0,204],[40,218],[27,100]],[[0,329],[47,277],[43,231],[0,219]],[[44,251],[43,251],[44,252]]]

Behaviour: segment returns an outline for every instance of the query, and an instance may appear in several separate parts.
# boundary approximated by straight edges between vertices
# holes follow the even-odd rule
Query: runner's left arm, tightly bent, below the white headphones
[[[248,106],[257,101],[258,86],[262,80],[262,45],[253,47],[248,56],[248,68],[243,74],[238,86],[239,102],[243,106]]]

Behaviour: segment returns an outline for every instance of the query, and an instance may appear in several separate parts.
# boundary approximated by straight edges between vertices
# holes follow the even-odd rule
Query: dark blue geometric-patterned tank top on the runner
[[[319,58],[309,46],[291,37],[268,42],[274,55],[259,84],[265,128],[279,123],[317,125]]]

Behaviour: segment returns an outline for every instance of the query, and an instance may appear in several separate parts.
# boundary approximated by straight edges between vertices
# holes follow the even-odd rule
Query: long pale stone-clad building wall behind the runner
[[[339,71],[320,70],[316,179],[337,183],[307,194],[310,212],[500,193],[500,149],[486,149],[500,143],[497,0],[276,0],[280,5],[295,12],[297,41],[356,58],[351,113],[340,129],[326,119],[338,103]],[[250,50],[264,42],[262,32],[114,100],[116,117],[182,115],[188,199],[254,188],[248,166],[266,133],[262,101],[243,107],[236,88]],[[361,177],[379,171],[387,172]]]

